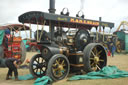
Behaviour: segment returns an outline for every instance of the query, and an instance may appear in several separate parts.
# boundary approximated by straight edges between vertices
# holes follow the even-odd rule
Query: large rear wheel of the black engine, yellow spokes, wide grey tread
[[[104,47],[99,43],[88,44],[84,48],[84,71],[97,71],[101,70],[107,64],[107,55]]]

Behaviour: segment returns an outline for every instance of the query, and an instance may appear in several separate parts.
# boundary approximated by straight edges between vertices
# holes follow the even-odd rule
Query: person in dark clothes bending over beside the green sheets
[[[8,73],[6,76],[6,80],[11,79],[12,77],[12,72],[14,72],[15,80],[18,80],[18,71],[17,68],[19,65],[21,65],[21,60],[20,59],[15,59],[15,58],[8,58],[5,61],[6,66],[8,67]]]

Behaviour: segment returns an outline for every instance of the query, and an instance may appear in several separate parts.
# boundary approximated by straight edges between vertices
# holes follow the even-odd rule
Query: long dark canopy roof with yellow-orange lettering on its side
[[[19,22],[21,23],[42,25],[44,21],[45,25],[50,25],[50,22],[52,22],[55,26],[70,28],[91,29],[91,27],[98,27],[99,25],[110,28],[114,27],[114,23],[110,22],[99,22],[97,20],[57,15],[40,11],[30,11],[19,16]]]

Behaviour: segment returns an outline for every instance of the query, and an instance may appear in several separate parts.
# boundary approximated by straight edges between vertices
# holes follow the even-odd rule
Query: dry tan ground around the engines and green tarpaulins
[[[36,53],[27,53],[27,58],[30,59]],[[121,70],[128,71],[128,54],[116,54],[114,57],[108,57],[107,65],[115,65]],[[29,69],[19,69],[19,75],[29,74]],[[5,80],[7,68],[0,68],[0,85],[33,85],[33,80],[14,81]],[[128,78],[119,79],[98,79],[98,80],[78,80],[66,81],[67,79],[53,83],[53,85],[127,85]]]

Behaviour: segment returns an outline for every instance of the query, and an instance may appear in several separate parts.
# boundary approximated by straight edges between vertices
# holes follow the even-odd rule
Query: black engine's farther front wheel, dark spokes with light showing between
[[[34,77],[42,77],[46,74],[47,64],[41,54],[36,54],[32,57],[29,70]]]

